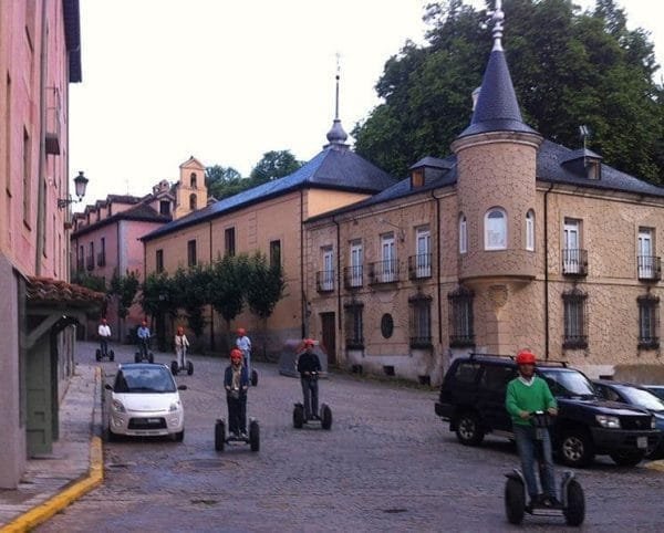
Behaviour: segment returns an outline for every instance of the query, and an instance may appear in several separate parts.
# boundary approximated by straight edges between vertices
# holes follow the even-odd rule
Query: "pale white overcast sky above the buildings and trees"
[[[72,207],[146,195],[177,180],[190,156],[242,176],[269,150],[311,159],[334,118],[338,64],[350,134],[381,103],[374,87],[385,62],[408,39],[425,43],[427,1],[80,0],[83,82],[71,85],[70,174],[83,170],[90,182]],[[618,3],[629,28],[651,32],[664,65],[664,2]]]

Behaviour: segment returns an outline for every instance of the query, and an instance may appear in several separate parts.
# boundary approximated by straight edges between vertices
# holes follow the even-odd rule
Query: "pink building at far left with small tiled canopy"
[[[59,437],[71,325],[98,295],[69,280],[69,84],[77,0],[0,2],[0,488]]]

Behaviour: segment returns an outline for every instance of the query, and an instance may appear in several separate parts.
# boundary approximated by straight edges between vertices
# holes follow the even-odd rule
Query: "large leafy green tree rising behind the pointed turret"
[[[505,0],[507,60],[525,121],[544,137],[580,147],[578,127],[604,161],[662,182],[663,90],[643,30],[626,29],[614,0],[579,12],[571,0]],[[460,0],[436,2],[427,44],[407,42],[385,63],[376,92],[384,103],[353,129],[355,149],[394,176],[425,155],[446,155],[469,124],[470,94],[491,48],[486,11]]]

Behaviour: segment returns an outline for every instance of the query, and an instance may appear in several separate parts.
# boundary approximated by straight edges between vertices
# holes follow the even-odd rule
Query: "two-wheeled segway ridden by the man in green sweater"
[[[542,446],[543,431],[548,431],[551,425],[551,417],[543,412],[532,414],[532,424],[536,427],[536,438],[539,441],[536,445],[536,453],[540,467],[540,479],[542,478]],[[533,516],[564,516],[568,525],[577,526],[583,523],[585,518],[585,498],[583,489],[575,479],[573,472],[566,471],[560,482],[561,505],[551,506],[540,502],[526,504],[526,479],[523,472],[515,469],[506,473],[507,483],[505,484],[505,512],[507,520],[511,524],[520,524],[526,513]]]

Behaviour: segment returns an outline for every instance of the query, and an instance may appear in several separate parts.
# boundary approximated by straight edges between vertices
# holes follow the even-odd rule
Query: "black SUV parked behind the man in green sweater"
[[[551,430],[557,457],[571,467],[585,467],[595,454],[609,454],[620,466],[635,466],[657,445],[660,432],[644,409],[598,398],[592,383],[564,363],[539,363],[558,401]],[[488,432],[513,438],[505,408],[507,384],[517,376],[512,357],[478,355],[452,363],[440,387],[436,415],[449,421],[458,440],[478,446]]]

